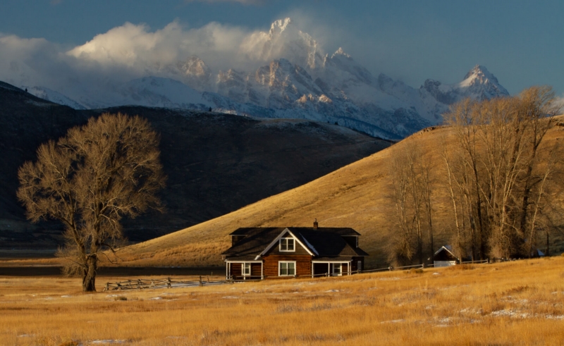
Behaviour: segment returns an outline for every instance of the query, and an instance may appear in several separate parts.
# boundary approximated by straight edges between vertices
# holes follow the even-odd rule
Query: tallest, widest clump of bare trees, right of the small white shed
[[[462,208],[466,210],[462,221],[469,221],[472,254],[476,249],[482,258],[530,254],[545,190],[556,171],[543,160],[556,150],[544,145],[544,137],[557,112],[551,88],[532,87],[517,97],[467,99],[445,115],[462,149],[460,165],[451,164],[448,153],[443,154],[451,176],[449,192],[456,211],[455,181],[460,205],[470,207]],[[460,234],[464,227],[460,228],[456,214]]]

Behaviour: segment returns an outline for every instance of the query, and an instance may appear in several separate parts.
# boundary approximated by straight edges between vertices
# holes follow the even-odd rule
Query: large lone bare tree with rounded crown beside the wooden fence
[[[37,149],[37,161],[18,171],[18,199],[32,222],[64,225],[65,271],[82,276],[82,290],[95,291],[104,250],[123,239],[121,218],[160,209],[157,191],[166,178],[159,161],[159,135],[138,116],[102,114],[65,137]]]

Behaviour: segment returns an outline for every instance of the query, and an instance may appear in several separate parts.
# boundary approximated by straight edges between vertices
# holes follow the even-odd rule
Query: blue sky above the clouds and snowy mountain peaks
[[[253,32],[289,16],[325,51],[343,47],[374,75],[412,87],[427,78],[459,82],[480,64],[511,94],[552,85],[561,96],[563,14],[564,1],[2,0],[0,35],[68,50],[126,22],[149,32],[173,21],[184,30],[215,22]]]

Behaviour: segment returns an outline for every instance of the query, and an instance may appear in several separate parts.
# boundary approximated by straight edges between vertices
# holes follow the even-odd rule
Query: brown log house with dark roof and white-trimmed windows
[[[342,276],[362,270],[368,254],[353,228],[238,228],[221,254],[228,280]]]

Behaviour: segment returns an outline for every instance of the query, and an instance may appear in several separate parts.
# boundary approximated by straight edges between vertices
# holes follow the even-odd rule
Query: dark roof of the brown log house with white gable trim
[[[231,235],[245,235],[233,247],[223,252],[227,257],[259,256],[271,247],[276,238],[284,232],[290,232],[308,252],[315,257],[335,256],[368,256],[359,247],[351,247],[343,236],[358,236],[353,228],[305,228],[305,227],[279,227],[279,228],[239,228]]]

